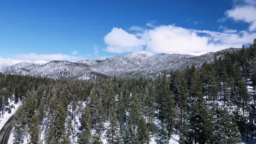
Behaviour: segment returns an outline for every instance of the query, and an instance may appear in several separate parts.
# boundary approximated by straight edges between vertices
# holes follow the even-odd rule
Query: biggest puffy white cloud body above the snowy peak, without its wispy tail
[[[173,25],[148,29],[142,38],[147,43],[146,51],[153,53],[193,53],[202,51],[202,45],[207,44],[207,38]]]

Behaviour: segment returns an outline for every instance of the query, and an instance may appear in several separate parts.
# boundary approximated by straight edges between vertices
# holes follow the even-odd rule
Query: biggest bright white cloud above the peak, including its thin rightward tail
[[[200,36],[200,34],[205,34],[205,36]],[[241,47],[241,44],[234,45],[214,41],[213,36],[204,31],[196,31],[194,29],[186,29],[173,25],[149,29],[144,32],[143,39],[147,41],[146,51],[153,53],[200,55],[228,47]]]

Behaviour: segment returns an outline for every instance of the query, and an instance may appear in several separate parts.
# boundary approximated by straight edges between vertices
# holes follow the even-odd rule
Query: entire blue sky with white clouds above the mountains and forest
[[[1,1],[0,58],[78,61],[137,51],[200,55],[252,43],[255,5],[254,0]]]

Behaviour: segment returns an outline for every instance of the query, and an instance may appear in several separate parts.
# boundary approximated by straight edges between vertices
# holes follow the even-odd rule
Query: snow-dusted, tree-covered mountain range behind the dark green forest
[[[203,62],[212,62],[215,56],[236,51],[226,49],[210,52],[201,56],[158,53],[135,52],[127,56],[114,56],[79,62],[51,61],[21,62],[10,64],[0,72],[5,74],[31,75],[49,77],[52,79],[90,79],[96,76],[138,77],[140,75],[154,76],[162,71],[184,70],[187,66],[195,64],[197,67]]]

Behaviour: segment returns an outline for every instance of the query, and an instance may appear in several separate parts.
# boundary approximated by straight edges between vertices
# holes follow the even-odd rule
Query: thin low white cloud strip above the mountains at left
[[[85,59],[83,56],[70,56],[65,55],[61,53],[56,54],[36,54],[36,53],[28,53],[28,54],[20,54],[15,56],[15,58],[24,59],[28,61],[53,61],[53,60],[59,60],[59,61],[79,61],[82,59]]]

